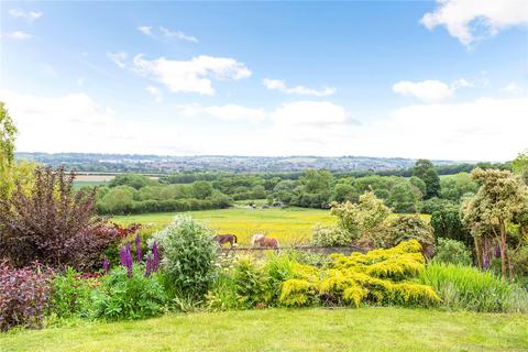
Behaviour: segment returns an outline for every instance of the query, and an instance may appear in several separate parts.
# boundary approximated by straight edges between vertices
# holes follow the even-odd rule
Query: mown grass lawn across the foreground
[[[0,351],[527,351],[528,316],[404,308],[165,316],[0,334]]]

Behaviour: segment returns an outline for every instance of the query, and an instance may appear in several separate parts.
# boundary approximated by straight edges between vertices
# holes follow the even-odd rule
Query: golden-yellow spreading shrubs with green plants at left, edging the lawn
[[[432,288],[414,282],[425,270],[420,251],[417,241],[408,241],[367,254],[333,255],[328,267],[300,264],[292,253],[274,255],[265,263],[242,258],[222,274],[224,278],[212,287],[208,299],[217,308],[435,306],[440,298]],[[229,289],[234,293],[228,294]]]

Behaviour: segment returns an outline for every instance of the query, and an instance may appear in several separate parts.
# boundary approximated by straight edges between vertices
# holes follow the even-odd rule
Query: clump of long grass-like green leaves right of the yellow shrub
[[[490,312],[528,311],[528,293],[474,267],[431,263],[420,282],[430,285],[449,308]]]

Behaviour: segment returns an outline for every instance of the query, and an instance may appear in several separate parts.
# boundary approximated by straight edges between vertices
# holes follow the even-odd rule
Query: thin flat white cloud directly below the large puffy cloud
[[[178,107],[178,112],[187,118],[206,116],[226,121],[260,122],[266,117],[266,113],[262,109],[246,108],[238,105],[208,107],[200,105],[180,106]]]

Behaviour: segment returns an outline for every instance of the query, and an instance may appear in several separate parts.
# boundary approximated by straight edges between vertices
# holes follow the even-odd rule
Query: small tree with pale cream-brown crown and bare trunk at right
[[[471,174],[481,186],[462,207],[463,221],[472,229],[491,229],[501,248],[501,273],[506,276],[508,232],[506,226],[528,201],[526,186],[508,170],[476,168]],[[510,272],[512,275],[512,272]]]

